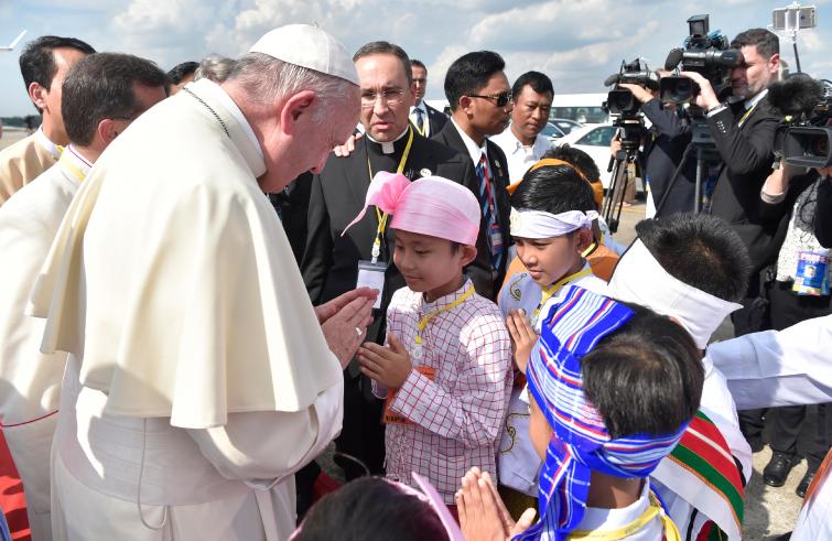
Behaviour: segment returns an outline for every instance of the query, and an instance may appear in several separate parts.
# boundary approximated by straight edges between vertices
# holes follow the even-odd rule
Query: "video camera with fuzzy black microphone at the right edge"
[[[775,154],[789,165],[832,165],[832,83],[793,74],[769,85],[768,101],[785,117],[775,134]]]

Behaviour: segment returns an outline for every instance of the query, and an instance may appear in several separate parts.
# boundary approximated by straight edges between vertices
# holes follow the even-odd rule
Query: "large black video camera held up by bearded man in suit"
[[[693,15],[688,19],[690,35],[684,40],[684,48],[674,48],[664,61],[664,69],[677,67],[684,72],[702,74],[718,95],[728,86],[728,71],[739,66],[743,53],[728,48],[728,40],[718,30],[710,32],[709,15]],[[662,77],[661,100],[670,104],[684,104],[699,94],[699,86],[690,78],[680,75]]]

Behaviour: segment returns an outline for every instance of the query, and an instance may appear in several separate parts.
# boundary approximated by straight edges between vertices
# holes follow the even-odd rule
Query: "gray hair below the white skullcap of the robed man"
[[[303,90],[314,90],[322,102],[314,117],[318,123],[324,123],[338,108],[354,105],[350,102],[352,96],[357,104],[358,97],[358,87],[346,79],[289,64],[263,53],[248,53],[236,61],[227,80],[238,83],[251,101],[264,106]]]

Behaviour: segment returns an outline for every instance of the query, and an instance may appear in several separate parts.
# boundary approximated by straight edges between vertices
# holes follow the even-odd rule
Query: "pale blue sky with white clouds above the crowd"
[[[549,75],[557,94],[605,91],[622,59],[660,67],[688,34],[687,19],[709,13],[711,30],[733,37],[766,26],[787,0],[0,0],[0,44],[28,30],[79,37],[98,51],[132,53],[165,71],[210,53],[239,56],[266,31],[316,22],[353,52],[388,40],[429,68],[429,99],[443,98],[449,65],[487,48],[506,58],[509,80],[529,69]],[[817,0],[818,28],[798,39],[801,66],[832,78],[832,0]],[[0,52],[0,116],[34,112],[15,51]],[[784,58],[795,65],[791,42]]]

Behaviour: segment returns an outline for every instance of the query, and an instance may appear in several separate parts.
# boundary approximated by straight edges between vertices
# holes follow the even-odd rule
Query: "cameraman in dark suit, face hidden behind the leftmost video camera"
[[[656,72],[661,76],[659,72]],[[650,186],[650,195],[656,205],[661,202],[669,182],[682,161],[684,150],[691,142],[691,130],[685,116],[674,105],[662,104],[658,93],[640,85],[622,83],[618,86],[633,93],[641,102],[641,112],[652,125],[644,144],[645,177]],[[661,208],[656,208],[656,216],[693,210],[695,197],[696,161],[689,159],[671,193]]]

